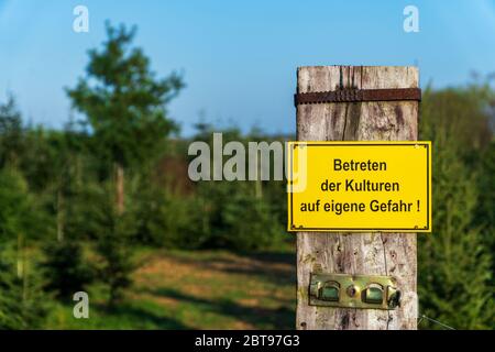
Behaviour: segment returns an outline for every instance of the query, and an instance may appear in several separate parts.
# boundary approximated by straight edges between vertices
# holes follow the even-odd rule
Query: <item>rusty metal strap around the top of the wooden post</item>
[[[332,91],[300,92],[294,95],[294,103],[323,103],[323,102],[359,102],[359,101],[396,101],[421,100],[419,88],[395,89],[340,89]]]

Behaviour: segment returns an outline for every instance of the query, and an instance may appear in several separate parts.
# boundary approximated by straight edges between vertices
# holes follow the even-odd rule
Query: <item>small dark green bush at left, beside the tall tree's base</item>
[[[53,242],[44,248],[45,289],[54,292],[56,297],[70,300],[73,295],[86,287],[94,279],[92,268],[86,264],[82,246],[75,241]]]

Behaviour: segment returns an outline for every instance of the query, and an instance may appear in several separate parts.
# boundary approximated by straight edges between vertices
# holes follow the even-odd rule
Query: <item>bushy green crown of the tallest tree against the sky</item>
[[[108,24],[101,51],[89,51],[87,77],[67,90],[73,106],[87,117],[99,156],[123,167],[161,152],[166,135],[176,130],[165,105],[184,86],[176,74],[155,77],[143,52],[130,48],[134,34],[135,29]]]

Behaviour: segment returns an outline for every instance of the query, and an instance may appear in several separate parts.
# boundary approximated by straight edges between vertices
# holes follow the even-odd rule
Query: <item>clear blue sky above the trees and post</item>
[[[73,31],[78,4],[89,33]],[[419,33],[403,31],[408,4]],[[28,120],[61,128],[70,111],[63,88],[84,74],[107,19],[138,25],[158,76],[184,72],[169,112],[185,135],[199,116],[294,132],[297,66],[417,64],[421,85],[435,87],[495,72],[495,0],[0,0],[0,101],[11,91]]]

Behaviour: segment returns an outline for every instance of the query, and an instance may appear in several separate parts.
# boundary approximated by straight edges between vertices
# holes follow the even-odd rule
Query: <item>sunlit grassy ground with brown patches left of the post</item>
[[[125,301],[109,310],[89,290],[90,318],[57,305],[50,329],[293,329],[295,253],[142,251]]]

